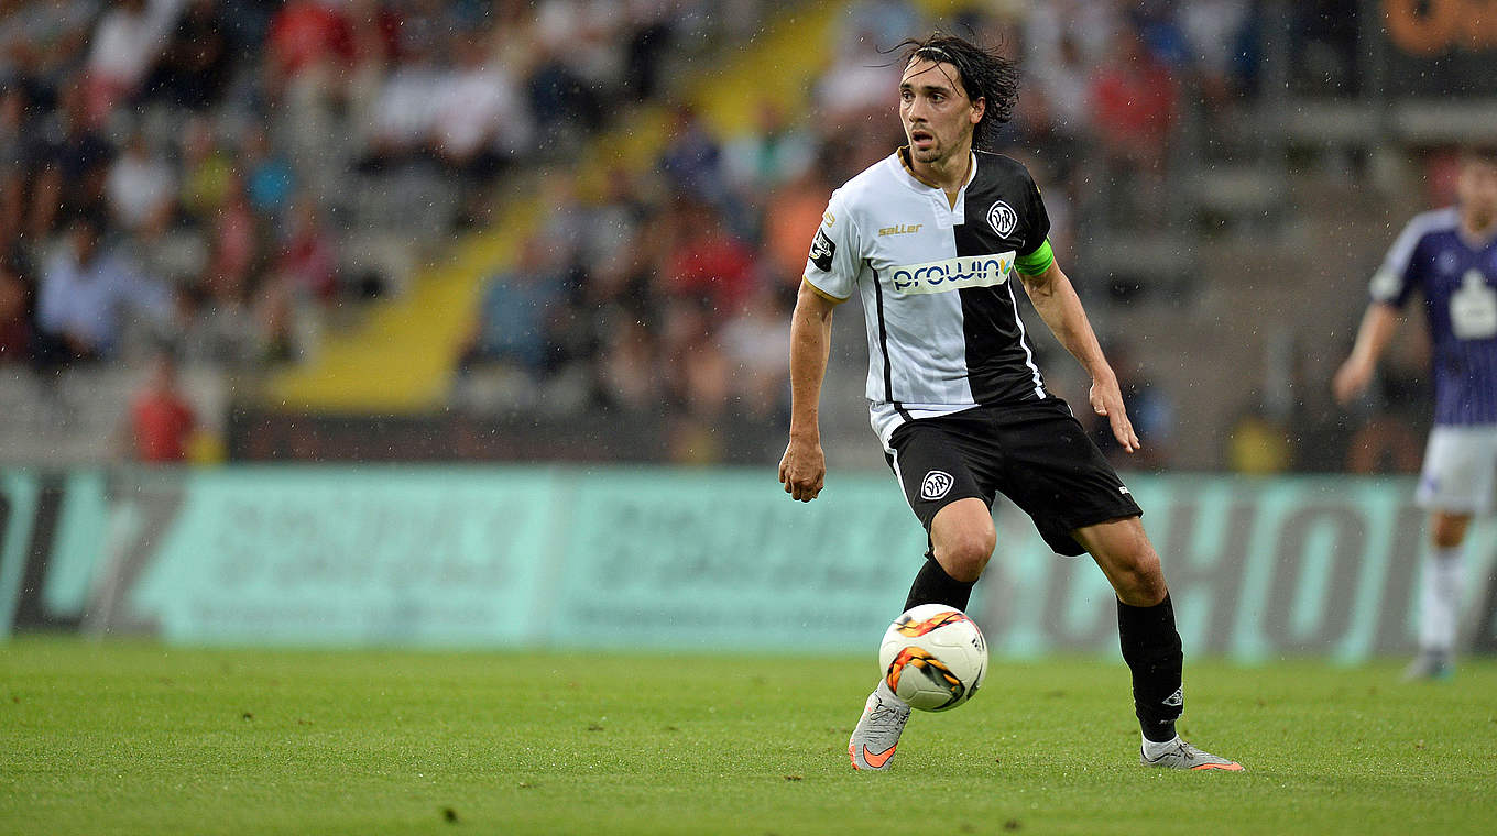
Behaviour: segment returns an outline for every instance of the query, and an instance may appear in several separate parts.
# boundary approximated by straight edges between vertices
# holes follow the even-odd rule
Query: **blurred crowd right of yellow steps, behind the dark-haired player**
[[[546,221],[488,283],[460,405],[626,416],[663,407],[687,461],[734,461],[713,437],[735,423],[783,443],[789,308],[811,235],[831,190],[903,144],[895,46],[931,25],[903,0],[853,3],[805,100],[757,103],[740,136],[677,106],[654,165],[612,172],[597,202],[554,173]],[[1040,179],[1066,253],[1087,218],[1157,215],[1087,212],[1100,182],[1144,202],[1162,188],[1184,96],[1211,97],[1220,112],[1256,85],[1247,0],[997,3],[945,25],[1021,60],[1019,108],[1000,150]],[[1162,441],[1145,467],[1163,465],[1172,408],[1139,369],[1120,375]]]

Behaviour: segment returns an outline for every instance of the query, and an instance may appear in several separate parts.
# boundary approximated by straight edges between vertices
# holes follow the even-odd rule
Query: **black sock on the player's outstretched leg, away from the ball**
[[[1118,601],[1118,639],[1123,661],[1133,671],[1133,710],[1144,737],[1156,743],[1172,740],[1175,721],[1186,704],[1180,686],[1186,657],[1180,651],[1169,595],[1153,607]]]

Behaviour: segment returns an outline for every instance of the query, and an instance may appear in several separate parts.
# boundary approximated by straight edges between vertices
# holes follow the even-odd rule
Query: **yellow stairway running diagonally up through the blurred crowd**
[[[921,6],[943,13],[960,3],[927,0]],[[719,136],[750,129],[759,102],[804,102],[823,67],[831,27],[846,7],[823,1],[783,13],[746,49],[687,82],[684,100],[698,106]],[[629,114],[584,150],[576,167],[581,191],[597,194],[608,170],[653,165],[668,130],[665,106]],[[406,295],[373,302],[358,328],[326,335],[314,357],[271,375],[262,404],[284,411],[379,414],[442,408],[484,281],[509,263],[540,212],[533,200],[507,200],[496,212],[499,223],[461,239],[443,263],[421,269]]]

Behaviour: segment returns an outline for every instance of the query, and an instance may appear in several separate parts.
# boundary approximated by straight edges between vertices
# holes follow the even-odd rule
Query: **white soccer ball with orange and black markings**
[[[988,673],[988,642],[957,607],[921,604],[894,619],[879,646],[889,689],[922,712],[954,709]]]

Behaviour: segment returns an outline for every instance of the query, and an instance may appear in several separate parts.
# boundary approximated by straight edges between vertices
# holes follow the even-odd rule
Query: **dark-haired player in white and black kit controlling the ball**
[[[1016,70],[960,37],[904,46],[898,94],[909,145],[832,193],[805,265],[780,482],[799,501],[822,491],[817,402],[832,308],[858,295],[868,325],[873,428],[930,535],[904,607],[967,607],[997,541],[993,501],[1001,492],[1055,552],[1091,553],[1117,591],[1142,763],[1241,770],[1175,734],[1184,704],[1180,634],[1142,511],[1066,402],[1046,389],[1018,314],[1015,278],[1090,372],[1091,408],[1124,450],[1136,450],[1117,377],[1055,263],[1034,181],[1018,162],[981,150],[1013,109]],[[880,680],[849,742],[853,767],[888,769],[909,716]]]

